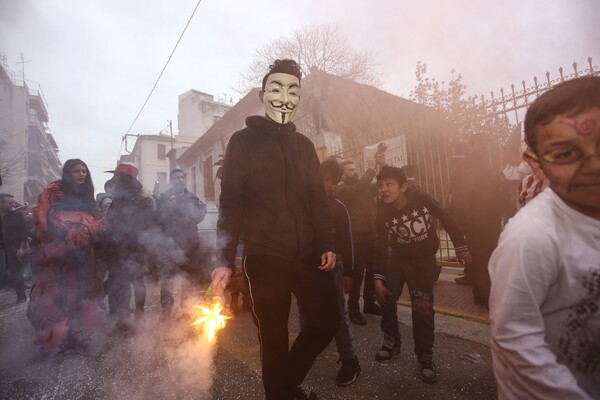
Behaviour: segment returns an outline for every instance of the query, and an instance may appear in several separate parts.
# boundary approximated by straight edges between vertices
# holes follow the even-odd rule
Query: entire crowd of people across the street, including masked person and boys
[[[415,166],[387,165],[385,151],[367,160],[362,176],[352,160],[319,162],[292,122],[301,80],[292,60],[269,67],[259,93],[265,115],[246,119],[219,164],[211,285],[221,297],[230,279],[239,286],[234,311],[237,293],[246,294],[265,397],[317,399],[305,377],[332,340],[341,363],[335,384],[355,382],[362,370],[352,324],[366,325],[363,313],[381,316],[375,360],[394,361],[405,284],[420,378],[436,381],[439,220],[465,266],[458,283],[471,285],[473,301],[490,310],[499,397],[598,398],[600,78],[562,83],[529,108],[524,157],[535,191],[511,197],[504,176],[486,166],[488,139],[473,135],[452,173],[448,209],[419,187]],[[144,324],[146,269],[160,280],[161,320],[173,313],[176,276],[185,277],[182,310],[189,305],[206,206],[186,189],[180,169],[154,197],[143,194],[135,167],[108,172],[106,193],[95,199],[87,165],[68,160],[62,178],[41,194],[33,227],[15,212],[14,197],[0,194],[7,266],[0,278],[10,277],[1,283],[19,302],[26,301],[20,260],[26,245],[36,243],[27,317],[43,357],[85,347],[105,295],[113,333],[134,334]],[[519,187],[531,188],[532,176],[525,179]],[[511,198],[520,208],[514,216]],[[300,332],[290,345],[292,295]]]

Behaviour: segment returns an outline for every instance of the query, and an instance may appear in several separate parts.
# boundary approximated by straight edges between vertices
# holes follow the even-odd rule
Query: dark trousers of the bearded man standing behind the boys
[[[354,245],[354,271],[352,272],[352,288],[348,295],[348,312],[359,311],[360,287],[363,288],[364,305],[375,303],[373,286],[373,242],[360,242]]]

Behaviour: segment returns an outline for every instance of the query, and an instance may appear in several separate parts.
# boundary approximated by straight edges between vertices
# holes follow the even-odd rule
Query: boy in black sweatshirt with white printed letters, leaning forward
[[[407,284],[415,353],[421,378],[435,382],[433,366],[433,284],[437,277],[435,254],[439,239],[433,223],[438,218],[450,235],[456,257],[469,263],[471,255],[456,220],[431,196],[411,188],[400,168],[384,166],[377,174],[381,204],[377,210],[375,242],[375,296],[381,305],[383,346],[375,359],[385,363],[400,353],[396,301]]]

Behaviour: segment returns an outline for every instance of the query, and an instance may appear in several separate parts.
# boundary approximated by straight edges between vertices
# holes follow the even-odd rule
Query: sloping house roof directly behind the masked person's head
[[[259,91],[254,88],[244,96],[190,146],[178,162],[189,163],[217,141],[222,140],[225,147],[229,137],[245,126],[248,116],[263,115]],[[347,141],[360,140],[364,135],[394,136],[404,132],[410,121],[437,115],[429,107],[323,71],[302,80],[301,98],[294,122],[298,130],[311,139],[317,133],[314,117],[319,112],[327,130]]]

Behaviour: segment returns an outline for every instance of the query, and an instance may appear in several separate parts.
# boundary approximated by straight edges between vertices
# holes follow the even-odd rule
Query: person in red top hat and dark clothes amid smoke
[[[131,287],[135,295],[135,319],[140,322],[146,302],[144,270],[148,232],[154,226],[154,200],[142,193],[138,169],[119,164],[114,171],[113,202],[105,217],[102,257],[108,265],[106,290],[110,313],[116,316],[114,332],[134,333],[130,321]]]

